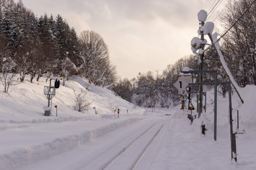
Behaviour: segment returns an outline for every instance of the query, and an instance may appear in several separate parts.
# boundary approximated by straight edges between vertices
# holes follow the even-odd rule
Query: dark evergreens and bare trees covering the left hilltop
[[[10,73],[19,75],[20,82],[25,75],[39,81],[43,74],[47,79],[60,76],[63,84],[70,75],[98,86],[117,80],[116,66],[99,34],[86,30],[78,37],[60,15],[37,17],[22,0],[0,0],[0,79],[6,87],[13,84]]]

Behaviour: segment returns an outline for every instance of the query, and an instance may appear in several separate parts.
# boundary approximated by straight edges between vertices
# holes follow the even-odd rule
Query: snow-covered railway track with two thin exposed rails
[[[162,127],[163,124],[150,126],[127,147],[122,149],[102,170],[115,168],[134,170]]]

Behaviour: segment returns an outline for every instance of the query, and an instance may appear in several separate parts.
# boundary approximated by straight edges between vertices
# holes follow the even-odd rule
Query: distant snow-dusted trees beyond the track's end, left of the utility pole
[[[156,102],[161,107],[168,107],[173,103],[173,97],[176,101],[179,98],[173,84],[184,67],[194,70],[198,67],[193,55],[185,56],[174,64],[168,64],[162,73],[156,70],[156,73],[138,73],[137,77],[130,81],[127,78],[120,79],[113,87],[113,91],[137,106],[151,107]]]

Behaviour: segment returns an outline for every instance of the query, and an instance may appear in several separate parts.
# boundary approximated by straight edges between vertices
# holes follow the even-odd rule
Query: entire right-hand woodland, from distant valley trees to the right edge
[[[223,31],[218,31],[222,35],[247,9],[253,0],[237,0],[227,4],[227,7],[219,15],[219,20]],[[256,4],[254,4],[244,16],[235,24],[233,28],[222,38],[220,48],[225,56],[225,61],[234,76],[236,82],[241,87],[246,85],[256,85]],[[207,46],[206,46],[207,47]],[[219,57],[213,47],[205,51],[204,70],[217,70],[218,81],[230,81]],[[198,64],[194,60],[195,56],[183,57],[176,63],[168,65],[161,74],[157,71],[138,73],[136,78],[130,81],[125,78],[119,80],[114,91],[125,100],[138,106],[149,107],[154,102],[161,107],[170,106],[172,97],[176,101],[179,99],[177,89],[173,83],[177,80],[177,75],[185,67],[197,70]],[[196,78],[196,77],[195,77]],[[213,81],[213,76],[204,75],[204,81]],[[211,87],[210,87],[211,88]],[[226,96],[227,90],[224,86],[218,86],[219,95]]]

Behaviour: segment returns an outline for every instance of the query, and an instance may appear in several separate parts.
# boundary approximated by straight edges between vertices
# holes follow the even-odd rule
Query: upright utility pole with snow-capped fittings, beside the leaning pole
[[[204,26],[204,21],[201,21],[201,27]],[[200,28],[199,28],[200,29]],[[204,32],[201,32],[201,40],[204,41]],[[201,44],[201,47],[204,50],[204,44]],[[204,66],[204,53],[200,54],[201,63],[199,65],[199,70],[203,70]],[[199,83],[203,82],[203,73],[199,73]],[[198,103],[198,118],[202,113],[202,100],[203,100],[203,85],[199,85],[199,103]]]

